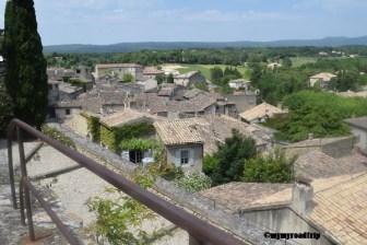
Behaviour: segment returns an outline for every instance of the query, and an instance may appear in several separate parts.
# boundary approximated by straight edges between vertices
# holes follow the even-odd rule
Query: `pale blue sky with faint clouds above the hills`
[[[367,35],[367,0],[34,1],[44,45]]]

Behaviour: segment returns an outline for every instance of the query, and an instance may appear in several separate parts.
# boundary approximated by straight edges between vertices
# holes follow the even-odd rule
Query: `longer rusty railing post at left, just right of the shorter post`
[[[17,136],[19,151],[20,151],[22,184],[23,184],[23,190],[24,190],[24,197],[25,197],[25,206],[26,206],[26,215],[27,215],[29,237],[31,237],[32,241],[35,241],[36,236],[35,236],[35,231],[34,231],[34,226],[33,226],[33,215],[32,215],[32,203],[31,203],[29,189],[26,185],[24,185],[24,183],[27,178],[27,171],[26,171],[26,166],[25,166],[24,144],[23,144],[22,131],[19,127],[16,127],[16,136]]]

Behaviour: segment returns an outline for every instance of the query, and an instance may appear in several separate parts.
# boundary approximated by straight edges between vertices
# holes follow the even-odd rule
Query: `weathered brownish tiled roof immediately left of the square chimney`
[[[288,205],[292,187],[293,184],[228,183],[201,194],[235,213],[251,208]]]

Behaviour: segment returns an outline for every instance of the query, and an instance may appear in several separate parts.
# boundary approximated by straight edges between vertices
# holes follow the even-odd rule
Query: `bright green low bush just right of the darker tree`
[[[284,152],[275,150],[270,155],[259,155],[245,163],[244,182],[291,183],[294,179],[295,159],[286,159]]]

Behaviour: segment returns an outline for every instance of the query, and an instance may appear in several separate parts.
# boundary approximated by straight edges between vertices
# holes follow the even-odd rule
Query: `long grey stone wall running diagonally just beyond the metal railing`
[[[120,170],[125,175],[131,175],[137,165],[122,160],[117,154],[111,153],[108,150],[102,149],[98,144],[95,144],[83,137],[73,133],[66,127],[59,125],[51,125],[61,130],[64,135],[70,137],[78,150],[98,162],[104,162]],[[265,240],[264,232],[275,232],[268,228],[261,228],[259,224],[254,224],[251,220],[240,217],[238,213],[233,213],[226,207],[216,203],[214,200],[203,197],[200,194],[191,194],[177,187],[173,182],[167,182],[163,178],[157,178],[154,189],[157,192],[168,197],[171,202],[178,203],[180,207],[193,211],[203,220],[211,221],[221,228],[246,238],[248,244],[263,244],[263,245],[281,245],[284,241]],[[299,244],[294,241],[287,241],[288,245]]]

